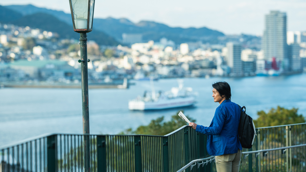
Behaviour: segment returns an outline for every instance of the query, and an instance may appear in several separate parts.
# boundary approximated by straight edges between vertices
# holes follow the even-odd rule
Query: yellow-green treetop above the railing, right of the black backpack
[[[272,108],[268,113],[263,110],[257,112],[259,118],[253,120],[256,127],[268,127],[276,125],[297,124],[306,122],[302,114],[297,114],[298,108],[285,109],[278,106],[276,109]]]

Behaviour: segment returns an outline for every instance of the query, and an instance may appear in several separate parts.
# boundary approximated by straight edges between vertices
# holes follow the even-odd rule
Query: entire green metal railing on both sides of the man
[[[243,149],[240,171],[306,171],[305,126],[306,123],[257,128],[252,149]],[[207,136],[190,126],[165,136],[89,137],[94,172],[176,172],[187,164],[190,166],[186,171],[216,171],[214,159],[206,150]],[[282,149],[294,145],[300,147]],[[0,172],[84,171],[83,153],[81,134],[39,136],[0,148]],[[194,160],[197,161],[193,163]]]

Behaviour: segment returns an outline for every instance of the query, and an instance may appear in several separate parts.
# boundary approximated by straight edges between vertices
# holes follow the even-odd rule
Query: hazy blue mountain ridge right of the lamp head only
[[[141,33],[145,41],[159,41],[160,38],[166,37],[176,43],[191,42],[202,40],[204,42],[211,39],[217,39],[218,36],[224,36],[222,32],[203,28],[171,28],[166,24],[156,23],[153,21],[140,21],[132,23],[128,19],[94,19],[94,28],[101,28],[107,34],[120,40],[122,33]]]

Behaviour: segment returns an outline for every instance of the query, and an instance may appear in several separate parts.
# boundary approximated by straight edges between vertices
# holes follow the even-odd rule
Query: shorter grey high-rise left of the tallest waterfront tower
[[[237,43],[226,43],[227,65],[231,68],[230,75],[240,77],[243,74],[241,62],[241,45]]]

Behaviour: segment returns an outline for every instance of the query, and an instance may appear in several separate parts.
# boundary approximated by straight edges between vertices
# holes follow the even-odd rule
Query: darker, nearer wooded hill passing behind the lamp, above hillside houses
[[[80,38],[80,34],[73,31],[73,26],[68,25],[63,21],[58,20],[53,15],[46,13],[26,15],[9,23],[18,26],[29,26],[30,28],[39,28],[50,32],[57,32],[62,38]],[[94,40],[100,45],[118,45],[118,42],[114,40],[114,38],[99,31],[89,32],[88,39]]]

